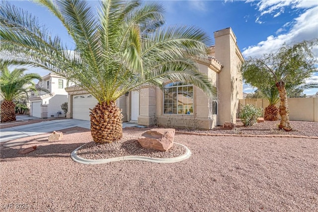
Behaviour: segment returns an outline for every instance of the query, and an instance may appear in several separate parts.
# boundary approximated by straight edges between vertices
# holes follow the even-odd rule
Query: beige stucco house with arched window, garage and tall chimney
[[[199,71],[209,76],[218,89],[219,102],[211,101],[197,87],[183,82],[166,82],[164,91],[141,87],[117,100],[123,122],[140,125],[198,125],[212,129],[224,122],[236,123],[239,99],[243,97],[240,65],[244,61],[237,38],[231,28],[214,32],[215,46],[210,47],[209,60],[198,63]],[[78,86],[66,88],[69,93],[68,118],[89,120],[89,108],[97,100]]]

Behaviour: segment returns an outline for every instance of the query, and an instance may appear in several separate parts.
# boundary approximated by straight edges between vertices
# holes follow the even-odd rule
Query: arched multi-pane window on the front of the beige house
[[[163,113],[193,115],[193,85],[169,83],[163,91]]]

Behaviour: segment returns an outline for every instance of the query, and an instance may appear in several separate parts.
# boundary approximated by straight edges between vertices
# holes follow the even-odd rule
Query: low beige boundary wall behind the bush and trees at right
[[[318,98],[288,98],[287,102],[290,120],[318,122]],[[263,109],[269,105],[267,99],[240,99],[239,103],[252,104]],[[279,104],[280,102],[276,106],[279,107]]]

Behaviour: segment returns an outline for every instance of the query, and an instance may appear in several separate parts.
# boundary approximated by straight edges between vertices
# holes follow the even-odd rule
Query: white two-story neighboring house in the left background
[[[49,73],[42,77],[42,81],[37,83],[37,87],[45,88],[50,93],[39,91],[31,93],[30,116],[39,118],[64,117],[61,104],[68,102],[67,79],[54,73]],[[58,114],[58,112],[62,114]]]

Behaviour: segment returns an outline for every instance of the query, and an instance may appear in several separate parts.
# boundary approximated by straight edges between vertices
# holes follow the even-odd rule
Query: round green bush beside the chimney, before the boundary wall
[[[257,108],[254,105],[243,105],[239,111],[239,118],[244,126],[252,126],[256,123],[258,117],[262,115],[262,108]]]

